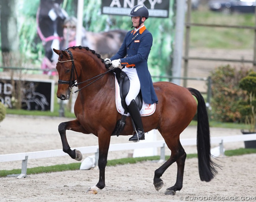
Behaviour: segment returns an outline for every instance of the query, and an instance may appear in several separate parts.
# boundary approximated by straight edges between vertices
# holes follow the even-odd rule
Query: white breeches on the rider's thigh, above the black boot
[[[130,79],[130,89],[125,98],[126,105],[130,105],[131,101],[137,97],[139,90],[141,89],[141,83],[139,82],[139,77],[135,68],[124,67],[122,69],[128,78]]]

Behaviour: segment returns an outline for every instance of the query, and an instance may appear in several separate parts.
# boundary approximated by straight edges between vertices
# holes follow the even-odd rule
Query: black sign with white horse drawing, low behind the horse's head
[[[17,81],[11,84],[9,79],[0,79],[0,101],[9,108],[15,105],[13,91],[17,92],[21,87],[22,109],[26,110],[50,110],[53,112],[54,81]]]

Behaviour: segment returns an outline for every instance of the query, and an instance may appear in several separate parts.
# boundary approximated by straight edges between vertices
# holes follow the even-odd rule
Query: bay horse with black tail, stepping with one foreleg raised
[[[59,55],[56,69],[58,71],[57,97],[69,99],[70,90],[78,86],[78,96],[74,105],[76,119],[59,124],[63,151],[75,160],[82,160],[80,151],[71,150],[66,138],[66,130],[94,134],[98,137],[99,147],[99,181],[88,189],[96,194],[105,187],[105,168],[110,138],[121,114],[115,106],[115,75],[108,70],[104,60],[88,47],[74,46],[67,50],[55,50]],[[175,195],[182,189],[186,152],[180,143],[180,133],[186,129],[197,112],[197,152],[200,180],[209,182],[217,173],[216,163],[210,154],[210,128],[204,98],[193,88],[184,88],[170,82],[156,82],[154,89],[158,104],[154,114],[142,117],[145,132],[157,129],[167,147],[171,150],[170,158],[156,169],[153,184],[158,191],[163,187],[161,176],[174,162],[177,163],[176,183],[167,188],[166,195]],[[197,102],[193,95],[196,97]],[[121,135],[132,135],[133,127],[130,117]]]

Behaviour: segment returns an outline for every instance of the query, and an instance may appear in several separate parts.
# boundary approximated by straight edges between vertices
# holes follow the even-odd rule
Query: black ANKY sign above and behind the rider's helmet
[[[103,14],[128,15],[136,5],[146,6],[149,17],[169,17],[169,0],[102,0],[101,10]]]

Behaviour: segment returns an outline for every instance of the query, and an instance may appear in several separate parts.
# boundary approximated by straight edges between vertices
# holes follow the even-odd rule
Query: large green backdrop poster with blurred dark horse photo
[[[131,30],[132,22],[126,14],[102,13],[103,4],[117,4],[113,7],[120,4],[130,10],[138,3],[148,7],[154,3],[157,8],[163,2],[167,1],[84,0],[83,27],[76,30],[78,0],[3,0],[0,2],[1,27],[6,28],[1,28],[2,66],[9,62],[3,55],[18,50],[20,58],[29,61],[32,68],[41,70],[37,73],[57,77],[58,55],[53,52],[53,48],[65,50],[78,45],[75,39],[77,31],[82,35],[79,45],[95,50],[102,58],[111,57],[119,50],[125,34]],[[153,46],[148,58],[152,75],[170,75],[171,72],[174,0],[169,0],[167,5],[167,17],[152,16],[145,22],[153,35]]]

